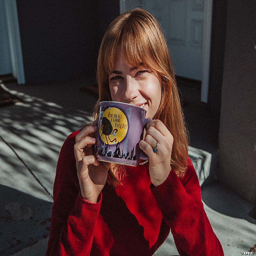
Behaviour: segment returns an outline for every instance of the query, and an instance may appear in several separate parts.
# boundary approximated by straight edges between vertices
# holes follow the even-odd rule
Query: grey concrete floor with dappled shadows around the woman
[[[79,89],[91,83],[93,78],[5,84],[23,102],[0,109],[0,255],[45,255],[58,154],[67,135],[90,119],[96,99]],[[184,112],[191,145],[215,159],[212,182],[202,188],[205,211],[226,256],[248,252],[256,244],[256,220],[248,216],[252,204],[213,179],[218,120],[198,102],[198,90],[181,91],[189,100]],[[171,234],[155,253],[176,254]]]

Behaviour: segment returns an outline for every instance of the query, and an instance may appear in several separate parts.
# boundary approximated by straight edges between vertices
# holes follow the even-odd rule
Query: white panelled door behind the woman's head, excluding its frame
[[[202,80],[204,0],[142,1],[166,33],[175,74]]]

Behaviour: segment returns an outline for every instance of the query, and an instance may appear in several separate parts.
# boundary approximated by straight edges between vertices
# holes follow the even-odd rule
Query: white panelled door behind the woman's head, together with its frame
[[[202,80],[201,101],[208,102],[213,0],[119,0],[120,13],[135,7],[162,24],[176,75]]]

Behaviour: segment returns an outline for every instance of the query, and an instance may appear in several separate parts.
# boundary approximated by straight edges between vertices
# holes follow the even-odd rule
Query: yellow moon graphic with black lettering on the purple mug
[[[109,145],[121,142],[127,133],[128,121],[123,111],[109,107],[100,114],[99,135],[103,142]]]

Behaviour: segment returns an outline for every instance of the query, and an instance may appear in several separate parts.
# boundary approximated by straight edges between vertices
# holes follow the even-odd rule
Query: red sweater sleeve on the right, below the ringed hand
[[[151,191],[181,256],[224,255],[204,211],[201,187],[190,159],[181,180],[172,169],[166,181],[151,187]]]

